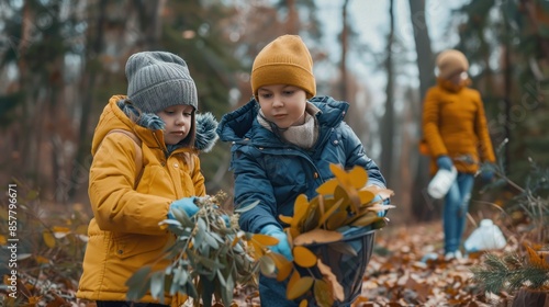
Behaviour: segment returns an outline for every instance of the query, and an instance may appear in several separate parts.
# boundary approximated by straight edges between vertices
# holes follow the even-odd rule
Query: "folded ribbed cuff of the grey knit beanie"
[[[198,109],[194,82],[186,79],[163,81],[133,93],[130,98],[145,113],[157,113],[177,104],[192,105]]]

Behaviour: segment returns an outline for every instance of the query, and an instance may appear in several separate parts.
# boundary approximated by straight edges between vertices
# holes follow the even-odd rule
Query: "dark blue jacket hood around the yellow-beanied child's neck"
[[[349,104],[345,101],[337,101],[330,96],[314,96],[309,100],[320,112],[316,114],[318,125],[336,126],[345,117]],[[256,121],[259,113],[259,103],[251,99],[247,104],[225,114],[217,126],[217,134],[223,141],[239,141],[259,124]],[[322,116],[321,116],[322,115]],[[255,124],[254,124],[255,123]]]

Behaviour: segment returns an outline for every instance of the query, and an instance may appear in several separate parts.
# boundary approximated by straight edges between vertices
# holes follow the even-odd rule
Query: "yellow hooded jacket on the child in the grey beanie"
[[[93,135],[89,196],[94,218],[77,293],[83,299],[126,300],[125,282],[138,269],[168,264],[159,260],[175,237],[158,223],[167,218],[170,203],[205,195],[198,155],[179,148],[166,158],[163,132],[132,122],[116,104],[121,99],[125,96],[111,98]],[[111,129],[131,130],[142,139],[142,177],[135,190],[135,141],[121,133],[107,135]],[[164,304],[178,306],[184,299],[166,295]],[[150,295],[141,302],[158,303]]]

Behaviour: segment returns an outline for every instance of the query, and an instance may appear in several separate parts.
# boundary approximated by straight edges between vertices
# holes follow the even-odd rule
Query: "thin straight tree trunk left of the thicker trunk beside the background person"
[[[393,174],[393,143],[394,143],[394,82],[393,82],[393,41],[394,41],[394,0],[389,3],[390,29],[386,43],[386,101],[385,114],[383,115],[383,129],[381,130],[381,170],[389,180]]]

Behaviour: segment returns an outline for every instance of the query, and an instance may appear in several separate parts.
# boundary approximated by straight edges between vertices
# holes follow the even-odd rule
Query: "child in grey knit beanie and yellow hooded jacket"
[[[125,282],[161,259],[175,235],[159,223],[171,209],[198,211],[205,195],[199,151],[216,140],[211,114],[197,115],[197,89],[187,64],[163,52],[134,54],[126,64],[127,96],[114,95],[97,125],[89,196],[93,211],[77,296],[98,307],[164,306],[149,294],[126,302]],[[136,160],[137,159],[137,160]],[[186,297],[166,293],[164,304]],[[133,304],[133,305],[132,305]]]

